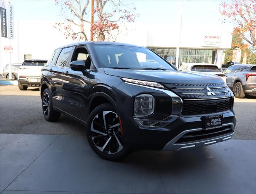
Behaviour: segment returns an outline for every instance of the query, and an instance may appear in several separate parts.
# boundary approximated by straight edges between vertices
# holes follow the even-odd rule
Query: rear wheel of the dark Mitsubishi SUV
[[[42,111],[47,121],[56,121],[61,115],[60,112],[53,110],[51,93],[48,88],[46,88],[42,94]]]

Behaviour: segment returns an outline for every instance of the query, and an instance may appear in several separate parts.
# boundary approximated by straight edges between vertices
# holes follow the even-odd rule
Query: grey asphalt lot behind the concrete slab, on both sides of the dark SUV
[[[256,96],[235,98],[237,126],[233,139],[256,139]],[[0,86],[0,133],[86,135],[85,126],[61,115],[57,122],[44,120],[39,88],[20,91]]]

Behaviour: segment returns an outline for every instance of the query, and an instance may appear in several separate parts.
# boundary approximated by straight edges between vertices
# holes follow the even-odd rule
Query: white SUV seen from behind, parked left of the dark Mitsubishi
[[[20,90],[27,90],[28,86],[39,86],[41,70],[47,60],[26,59],[19,67],[18,86]]]

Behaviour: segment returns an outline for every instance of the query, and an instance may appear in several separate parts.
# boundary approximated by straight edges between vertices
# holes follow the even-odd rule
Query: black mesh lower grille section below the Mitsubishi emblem
[[[204,101],[183,101],[183,115],[208,114],[230,110],[231,100],[204,100]]]

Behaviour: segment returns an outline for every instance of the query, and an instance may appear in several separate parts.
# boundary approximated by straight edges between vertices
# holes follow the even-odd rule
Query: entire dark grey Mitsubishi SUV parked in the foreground
[[[222,78],[179,72],[148,48],[79,42],[57,48],[42,69],[44,118],[85,124],[99,156],[182,150],[231,139],[233,93]],[[68,143],[68,142],[67,142]]]

